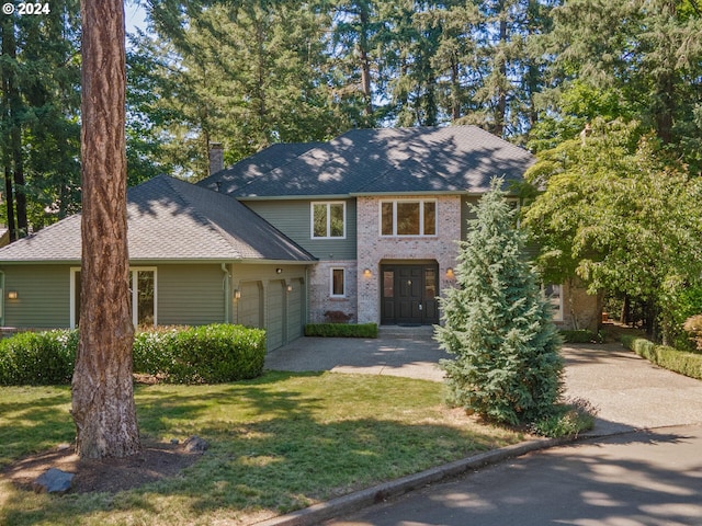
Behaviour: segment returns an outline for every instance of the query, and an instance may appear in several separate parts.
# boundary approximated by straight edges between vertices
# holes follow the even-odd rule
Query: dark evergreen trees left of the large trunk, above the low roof
[[[0,19],[0,165],[11,239],[72,214],[80,203],[79,2],[39,16]]]

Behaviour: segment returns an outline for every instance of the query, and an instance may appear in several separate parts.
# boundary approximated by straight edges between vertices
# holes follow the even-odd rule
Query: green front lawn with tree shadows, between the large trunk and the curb
[[[152,524],[167,524],[168,518],[157,519],[155,515],[168,517],[170,511],[158,510],[149,496],[154,494],[177,496],[174,502],[183,506],[178,512],[181,515],[177,515],[181,519],[184,515],[193,521],[210,512],[220,515],[222,510],[233,516],[261,510],[276,515],[509,439],[503,438],[506,432],[497,433],[496,438],[488,428],[460,428],[435,419],[403,421],[401,413],[414,408],[409,398],[415,393],[403,390],[406,380],[390,377],[369,377],[376,379],[365,380],[362,389],[366,389],[369,398],[363,403],[372,404],[373,397],[385,392],[374,392],[374,386],[395,386],[386,396],[397,400],[397,420],[388,415],[387,409],[384,416],[375,418],[367,411],[355,416],[344,400],[346,389],[361,380],[344,380],[344,388],[338,392],[324,391],[326,387],[333,388],[330,377],[335,376],[344,375],[268,373],[257,380],[228,386],[138,389],[141,432],[163,439],[191,434],[206,438],[211,447],[200,461],[181,477],[105,499],[45,498],[24,508],[22,493],[16,493],[5,499],[0,523],[80,524],[77,516],[105,512],[120,502],[120,510],[146,513]],[[322,386],[317,386],[316,391],[303,390],[299,381],[305,378]],[[44,409],[42,418],[61,419],[45,414]],[[33,423],[34,415],[26,425]]]

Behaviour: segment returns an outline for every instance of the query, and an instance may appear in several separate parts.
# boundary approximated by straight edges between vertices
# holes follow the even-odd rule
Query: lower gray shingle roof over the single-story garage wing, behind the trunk
[[[315,261],[236,199],[159,175],[127,194],[133,261]],[[80,215],[0,249],[0,262],[79,261]]]

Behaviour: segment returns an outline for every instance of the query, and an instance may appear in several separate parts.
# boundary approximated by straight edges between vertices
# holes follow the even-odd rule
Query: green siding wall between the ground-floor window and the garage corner
[[[157,272],[159,325],[225,321],[220,265],[159,265]]]

